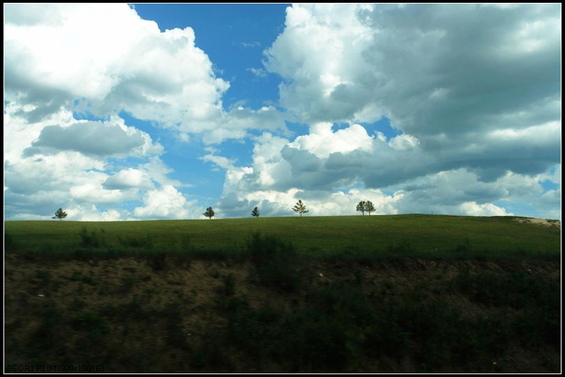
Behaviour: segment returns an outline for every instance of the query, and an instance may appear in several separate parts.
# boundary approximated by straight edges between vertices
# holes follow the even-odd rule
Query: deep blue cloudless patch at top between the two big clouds
[[[262,68],[263,50],[285,25],[285,4],[136,4],[145,20],[159,29],[190,26],[196,45],[206,52],[214,70],[232,84],[223,96],[225,107],[245,101],[260,107],[278,100],[280,77],[258,79],[250,68]]]

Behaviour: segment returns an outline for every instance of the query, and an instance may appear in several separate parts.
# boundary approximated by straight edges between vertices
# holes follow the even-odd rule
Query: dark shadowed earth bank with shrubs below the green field
[[[422,258],[403,240],[316,255],[259,233],[231,253],[190,238],[164,250],[88,228],[42,250],[6,236],[5,369],[560,371],[555,250],[469,239]]]

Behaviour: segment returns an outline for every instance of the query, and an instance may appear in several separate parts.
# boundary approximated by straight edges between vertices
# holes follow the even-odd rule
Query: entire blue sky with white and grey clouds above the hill
[[[561,219],[561,4],[4,4],[4,218]]]

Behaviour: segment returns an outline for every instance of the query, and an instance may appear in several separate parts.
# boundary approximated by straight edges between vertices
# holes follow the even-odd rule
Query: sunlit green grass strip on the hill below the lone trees
[[[81,232],[95,238],[84,239]],[[518,222],[515,217],[380,215],[340,217],[259,217],[229,220],[143,222],[4,222],[8,246],[22,251],[65,252],[82,246],[114,251],[151,249],[241,252],[250,236],[277,236],[301,255],[559,256],[560,229]],[[92,235],[92,233],[94,233]],[[90,245],[89,245],[90,244]],[[100,245],[98,245],[100,244]]]

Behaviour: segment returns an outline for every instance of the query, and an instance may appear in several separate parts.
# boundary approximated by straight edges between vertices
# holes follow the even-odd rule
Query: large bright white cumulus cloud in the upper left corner
[[[229,82],[216,77],[195,33],[160,31],[127,4],[11,4],[4,23],[5,95],[41,121],[61,108],[107,117],[127,111],[217,143],[248,129],[284,128],[276,109],[225,111]],[[31,15],[36,16],[31,16]]]

